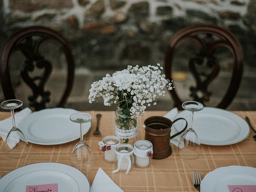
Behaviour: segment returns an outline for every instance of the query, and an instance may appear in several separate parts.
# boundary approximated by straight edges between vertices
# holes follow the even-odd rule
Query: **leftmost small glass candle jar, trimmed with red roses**
[[[99,142],[100,150],[104,152],[104,161],[107,163],[116,162],[116,146],[120,144],[120,139],[117,136],[106,136]]]

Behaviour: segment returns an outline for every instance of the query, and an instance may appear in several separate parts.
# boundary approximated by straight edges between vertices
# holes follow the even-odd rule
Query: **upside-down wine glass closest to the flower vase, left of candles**
[[[70,116],[70,120],[80,124],[80,141],[73,148],[71,153],[72,166],[90,173],[93,168],[93,154],[88,144],[84,141],[83,124],[92,120],[92,115],[89,113],[78,112]]]

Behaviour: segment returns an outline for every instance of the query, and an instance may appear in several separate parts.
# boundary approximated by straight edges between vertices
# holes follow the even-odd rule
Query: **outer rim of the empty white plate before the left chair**
[[[71,109],[71,108],[57,107],[57,108],[46,108],[46,109],[42,109],[42,110],[40,110],[40,111],[35,111],[35,112],[29,114],[28,116],[30,116],[30,115],[32,115],[32,114],[37,114],[37,113],[40,113],[40,112],[44,112],[44,111],[47,111],[47,110],[73,110],[74,113],[80,112],[80,111],[77,111],[77,110]],[[20,124],[24,119],[26,119],[28,116],[26,116],[25,118],[23,118],[23,119],[18,123],[18,127],[19,127],[19,124]],[[88,128],[87,131],[86,131],[86,129],[84,129],[84,134],[83,134],[83,135],[86,135],[86,134],[89,132],[90,128],[92,127],[92,123],[91,123],[91,122],[88,122],[88,123],[86,123],[86,124],[89,124],[89,126],[88,126],[89,128]],[[26,127],[26,129],[28,129],[28,127]],[[21,130],[23,131],[24,129],[21,129]],[[26,136],[26,135],[25,135],[25,136]],[[38,145],[60,145],[60,144],[65,144],[65,143],[68,143],[68,142],[72,142],[72,141],[74,141],[74,140],[77,140],[77,139],[80,138],[80,136],[77,136],[77,137],[74,138],[74,139],[67,140],[67,141],[64,141],[64,142],[62,141],[62,142],[52,142],[52,143],[36,142],[36,141],[30,140],[27,136],[26,136],[26,138],[27,138],[28,142],[33,143],[33,144],[38,144]]]

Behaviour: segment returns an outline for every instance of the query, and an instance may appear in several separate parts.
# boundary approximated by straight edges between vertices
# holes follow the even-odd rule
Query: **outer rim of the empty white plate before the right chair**
[[[225,113],[228,113],[228,114],[232,114],[232,115],[237,116],[238,118],[240,118],[241,120],[243,120],[243,121],[245,122],[245,125],[247,126],[248,133],[247,133],[246,136],[244,136],[244,138],[242,138],[242,139],[240,139],[240,140],[237,140],[237,141],[233,141],[233,142],[222,142],[222,143],[219,143],[219,144],[218,144],[218,143],[211,143],[211,142],[201,142],[201,144],[211,145],[211,146],[232,145],[232,144],[236,144],[236,143],[239,143],[239,142],[245,140],[245,139],[249,136],[249,134],[250,134],[250,128],[249,128],[248,124],[246,123],[246,121],[245,121],[242,117],[240,117],[239,115],[237,115],[237,114],[235,114],[235,113],[233,113],[233,112],[230,112],[230,111],[228,111],[228,110],[221,109],[221,108],[216,108],[216,107],[204,107],[204,109],[207,109],[207,110],[210,110],[210,109],[213,109],[213,110],[220,110],[220,111],[222,111],[222,112],[225,112]],[[186,112],[186,110],[182,110],[181,112],[179,112],[179,113],[174,117],[174,119],[176,119],[177,117],[182,117],[182,116],[179,116],[182,112]],[[178,130],[176,129],[176,127],[175,127],[175,124],[174,124],[174,128],[175,128],[176,131],[178,131]],[[241,132],[241,130],[240,130],[240,132]],[[240,133],[239,133],[239,134],[240,134]],[[238,134],[238,135],[239,135],[239,134]]]

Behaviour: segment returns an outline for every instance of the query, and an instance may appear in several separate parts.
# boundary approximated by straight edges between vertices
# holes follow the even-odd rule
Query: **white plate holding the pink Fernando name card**
[[[25,192],[27,185],[58,184],[59,192],[90,192],[88,178],[61,163],[35,163],[15,169],[0,179],[1,192]]]

